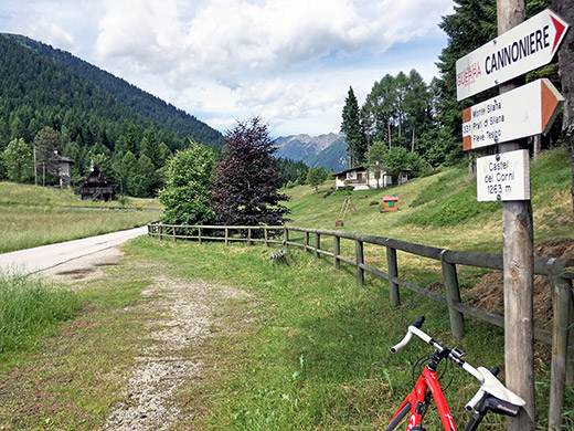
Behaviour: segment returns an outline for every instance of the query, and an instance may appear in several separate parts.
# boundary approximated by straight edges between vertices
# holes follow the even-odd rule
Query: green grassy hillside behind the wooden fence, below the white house
[[[571,185],[564,148],[544,153],[532,161],[535,243],[553,236],[574,236]],[[334,228],[334,222],[349,192],[333,192],[333,186],[326,182],[319,192],[308,186],[286,190],[291,198],[287,203],[293,211],[290,224],[390,236],[453,250],[502,252],[502,204],[477,202],[476,178],[466,169],[445,169],[385,190],[350,192],[357,212],[347,213],[342,228]],[[398,197],[398,211],[381,213],[382,197],[392,195]]]

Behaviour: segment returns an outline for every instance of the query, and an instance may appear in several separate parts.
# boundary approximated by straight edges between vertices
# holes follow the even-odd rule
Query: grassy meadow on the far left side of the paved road
[[[161,206],[137,198],[81,201],[70,190],[0,182],[0,253],[144,225],[159,217],[149,209]]]

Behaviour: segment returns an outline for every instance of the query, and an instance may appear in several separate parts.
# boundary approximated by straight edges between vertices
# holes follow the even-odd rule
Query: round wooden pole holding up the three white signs
[[[498,34],[520,24],[525,18],[524,0],[497,0]],[[523,83],[523,82],[522,82]],[[500,94],[520,82],[499,85]],[[521,149],[520,141],[499,145],[500,153]],[[530,200],[502,202],[502,243],[504,262],[504,362],[506,382],[527,404],[518,418],[509,418],[509,431],[534,431],[533,355],[533,223]]]

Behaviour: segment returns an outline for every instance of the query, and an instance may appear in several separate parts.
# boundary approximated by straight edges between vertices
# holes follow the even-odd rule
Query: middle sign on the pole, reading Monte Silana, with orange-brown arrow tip
[[[463,111],[463,148],[475,149],[548,133],[564,97],[538,80]]]

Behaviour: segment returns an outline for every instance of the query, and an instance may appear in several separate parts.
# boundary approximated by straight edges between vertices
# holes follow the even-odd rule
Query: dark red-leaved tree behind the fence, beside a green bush
[[[279,169],[267,126],[254,117],[225,135],[223,159],[214,172],[213,210],[217,222],[226,225],[278,225],[288,219],[289,209],[280,201]]]

